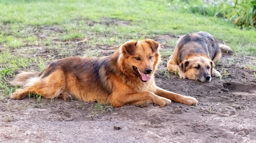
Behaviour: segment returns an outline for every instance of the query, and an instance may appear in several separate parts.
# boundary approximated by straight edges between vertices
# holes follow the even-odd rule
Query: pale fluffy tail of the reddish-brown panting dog
[[[38,72],[22,72],[17,74],[16,77],[11,81],[13,86],[29,87],[33,85],[35,81],[40,80]]]

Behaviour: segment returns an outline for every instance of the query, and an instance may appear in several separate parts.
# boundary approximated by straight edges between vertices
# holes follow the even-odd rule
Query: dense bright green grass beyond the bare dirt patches
[[[4,9],[0,10],[3,13],[0,25],[11,25],[9,29],[4,30],[4,33],[11,32],[12,35],[9,40],[0,40],[4,41],[7,47],[22,46],[26,41],[22,37],[31,34],[34,26],[61,26],[63,33],[59,38],[62,40],[84,38],[88,35],[86,31],[97,34],[107,32],[109,33],[107,39],[117,35],[126,41],[127,37],[140,39],[140,37],[154,34],[186,34],[204,30],[215,35],[217,39],[225,41],[241,54],[252,53],[250,51],[252,49],[249,48],[254,48],[256,43],[256,38],[252,36],[254,30],[241,31],[239,27],[221,18],[181,13],[169,9],[167,5],[168,3],[164,0],[93,0],[87,2],[82,0],[23,0],[21,2],[2,0],[0,6]],[[104,24],[111,19],[128,20],[130,25],[107,26]],[[88,26],[92,22],[99,24]],[[137,37],[138,35],[141,36]],[[104,43],[104,40],[101,41]],[[247,47],[249,51],[246,50]]]

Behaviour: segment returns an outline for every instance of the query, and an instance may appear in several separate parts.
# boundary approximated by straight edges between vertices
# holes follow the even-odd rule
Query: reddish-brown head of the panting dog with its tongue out
[[[158,49],[159,43],[151,39],[127,41],[121,45],[119,63],[126,74],[135,75],[146,82],[160,61]]]

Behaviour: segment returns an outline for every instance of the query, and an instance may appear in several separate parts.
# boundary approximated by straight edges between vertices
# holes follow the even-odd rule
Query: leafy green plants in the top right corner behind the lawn
[[[256,28],[256,0],[174,0],[189,13],[225,17],[234,24]]]

